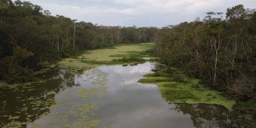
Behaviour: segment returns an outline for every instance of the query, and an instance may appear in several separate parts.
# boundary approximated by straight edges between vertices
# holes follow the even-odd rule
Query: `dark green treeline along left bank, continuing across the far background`
[[[85,49],[115,44],[150,42],[155,27],[98,26],[48,10],[30,2],[0,0],[0,79],[26,81],[39,70]]]

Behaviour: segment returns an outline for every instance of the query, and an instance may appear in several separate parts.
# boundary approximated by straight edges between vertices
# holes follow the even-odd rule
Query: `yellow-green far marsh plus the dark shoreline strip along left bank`
[[[54,69],[66,69],[70,73],[81,73],[99,65],[136,65],[146,62],[147,59],[154,59],[147,51],[154,46],[154,43],[140,44],[118,44],[114,47],[87,50],[69,58],[61,59],[56,63],[47,63],[44,68],[33,71],[27,81],[18,81],[12,84],[23,84],[40,81],[41,76]],[[143,59],[144,58],[144,59]],[[26,77],[27,77],[26,76]],[[8,80],[0,80],[0,86],[8,85]]]

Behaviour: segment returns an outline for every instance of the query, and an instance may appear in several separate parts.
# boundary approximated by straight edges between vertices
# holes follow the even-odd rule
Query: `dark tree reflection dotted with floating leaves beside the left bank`
[[[0,87],[0,127],[26,127],[50,113],[49,107],[56,104],[55,94],[66,87],[79,86],[75,74],[55,72],[42,74],[45,81]]]

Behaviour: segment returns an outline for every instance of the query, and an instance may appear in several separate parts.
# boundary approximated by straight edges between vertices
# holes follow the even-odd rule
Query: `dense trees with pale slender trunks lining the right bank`
[[[227,9],[226,18],[208,12],[204,20],[159,30],[155,42],[162,63],[239,99],[234,109],[250,120],[248,127],[256,127],[255,9],[237,5]]]

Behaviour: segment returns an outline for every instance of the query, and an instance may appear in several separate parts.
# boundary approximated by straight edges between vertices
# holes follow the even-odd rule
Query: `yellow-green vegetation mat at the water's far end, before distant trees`
[[[143,58],[154,59],[149,56],[148,49],[154,43],[122,44],[111,48],[84,51],[82,54],[62,59],[58,66],[70,72],[83,72],[98,65],[134,65],[145,62]]]

